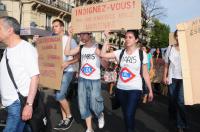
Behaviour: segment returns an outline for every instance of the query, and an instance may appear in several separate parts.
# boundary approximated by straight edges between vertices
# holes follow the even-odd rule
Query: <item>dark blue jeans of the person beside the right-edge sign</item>
[[[182,79],[172,79],[172,84],[169,85],[169,110],[175,113],[177,128],[188,127]]]

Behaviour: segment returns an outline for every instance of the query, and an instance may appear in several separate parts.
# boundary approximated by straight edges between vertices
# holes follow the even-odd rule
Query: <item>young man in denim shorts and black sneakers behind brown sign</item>
[[[72,65],[73,63],[77,62],[78,59],[73,58],[73,56],[66,56],[64,55],[65,46],[67,44],[67,40],[69,37],[64,34],[64,23],[60,19],[55,19],[52,22],[52,29],[55,35],[62,36],[62,45],[63,45],[63,78],[61,82],[60,90],[56,91],[55,98],[60,103],[60,108],[62,112],[62,120],[54,129],[56,130],[66,130],[69,129],[73,123],[73,117],[70,111],[69,101],[66,99],[65,95],[69,91],[69,85],[72,81],[72,78],[75,73],[75,68]],[[75,48],[77,46],[76,41],[72,40],[71,46]]]

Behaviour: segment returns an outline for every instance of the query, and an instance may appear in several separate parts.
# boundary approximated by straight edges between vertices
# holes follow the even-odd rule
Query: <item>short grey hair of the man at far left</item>
[[[20,24],[14,17],[2,16],[0,20],[3,20],[5,26],[12,27],[15,34],[20,35]]]

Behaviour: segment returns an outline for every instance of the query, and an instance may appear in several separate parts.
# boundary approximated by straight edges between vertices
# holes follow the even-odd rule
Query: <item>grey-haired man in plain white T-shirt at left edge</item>
[[[39,81],[37,51],[30,43],[22,40],[19,34],[20,24],[15,18],[0,17],[0,42],[7,45],[0,63],[0,94],[8,112],[3,132],[24,131],[25,121],[32,117],[32,104]],[[19,92],[27,96],[22,113],[17,90],[8,74],[6,57]]]

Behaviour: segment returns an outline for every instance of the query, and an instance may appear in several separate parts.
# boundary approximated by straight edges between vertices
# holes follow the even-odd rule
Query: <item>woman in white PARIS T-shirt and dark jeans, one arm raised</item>
[[[140,66],[142,63],[142,76],[145,79],[149,89],[149,101],[153,99],[151,83],[147,70],[147,55],[143,52],[143,62],[140,62],[138,42],[138,31],[128,30],[125,34],[125,52],[120,62],[120,73],[117,81],[116,96],[119,99],[124,115],[126,131],[133,132],[135,112],[142,94],[142,78],[140,75]],[[109,33],[105,32],[108,40]],[[116,50],[112,53],[106,53],[108,41],[103,45],[101,57],[114,58],[119,63],[119,56],[122,50]]]

